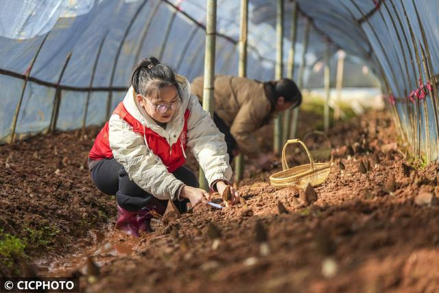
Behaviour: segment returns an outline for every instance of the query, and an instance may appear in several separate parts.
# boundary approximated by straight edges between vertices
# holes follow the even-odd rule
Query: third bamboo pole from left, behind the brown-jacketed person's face
[[[279,80],[282,78],[283,67],[283,0],[277,0],[276,13],[276,72],[274,78]],[[282,149],[282,118],[281,113],[274,120],[274,154],[281,154]]]

